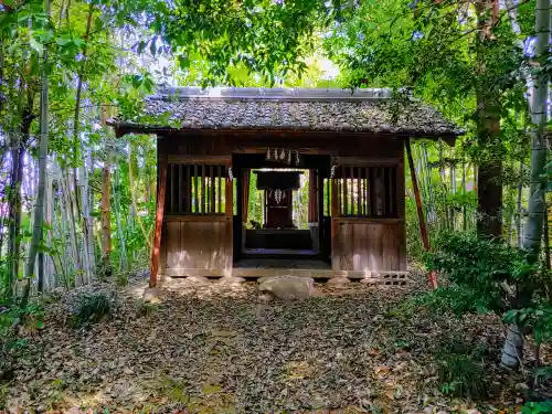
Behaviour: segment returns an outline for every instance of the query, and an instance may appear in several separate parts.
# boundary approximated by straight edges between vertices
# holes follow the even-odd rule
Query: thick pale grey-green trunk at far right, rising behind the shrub
[[[549,49],[550,43],[550,11],[551,0],[537,0],[534,29],[537,34],[534,57],[538,62]],[[542,73],[533,76],[531,94],[531,118],[533,127],[531,130],[531,185],[529,194],[529,217],[523,237],[523,250],[529,253],[529,261],[535,263],[541,251],[542,230],[545,214],[545,188],[544,167],[546,163],[546,144],[544,142],[544,128],[546,125],[546,95],[548,77]],[[531,297],[531,291],[518,291],[518,304],[526,306],[526,301]],[[523,337],[521,327],[510,327],[507,339],[502,348],[501,365],[511,370],[519,369],[520,359],[514,360],[511,354],[512,347],[523,350]],[[512,338],[510,338],[512,337]],[[512,339],[513,341],[509,340]],[[518,343],[519,342],[519,343]]]

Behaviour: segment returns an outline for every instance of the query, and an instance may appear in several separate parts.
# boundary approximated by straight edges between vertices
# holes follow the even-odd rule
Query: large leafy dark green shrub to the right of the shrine
[[[552,302],[546,287],[552,275],[530,258],[527,252],[500,241],[471,233],[442,234],[425,259],[428,268],[445,276],[445,284],[416,302],[457,315],[492,311],[516,325],[522,336],[532,335],[539,349],[552,341]],[[447,367],[463,362],[449,360]],[[542,368],[532,375],[534,385],[546,378]]]

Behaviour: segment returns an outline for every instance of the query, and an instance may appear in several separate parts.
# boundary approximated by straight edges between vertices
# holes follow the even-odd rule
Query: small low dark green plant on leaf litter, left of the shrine
[[[104,293],[79,295],[75,311],[70,317],[70,326],[87,328],[93,323],[110,320],[114,314],[113,301],[113,298]]]

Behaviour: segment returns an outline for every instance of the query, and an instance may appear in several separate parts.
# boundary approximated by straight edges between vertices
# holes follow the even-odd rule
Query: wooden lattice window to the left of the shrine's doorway
[[[226,166],[169,162],[168,214],[224,214],[225,205]]]

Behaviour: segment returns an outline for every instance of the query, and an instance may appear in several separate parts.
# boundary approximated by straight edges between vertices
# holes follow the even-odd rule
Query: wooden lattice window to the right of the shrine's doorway
[[[325,180],[325,213],[331,215],[331,180]],[[333,172],[339,216],[396,217],[397,167],[339,166]]]

